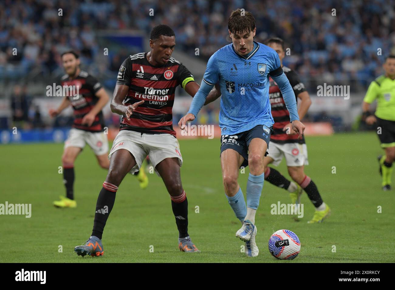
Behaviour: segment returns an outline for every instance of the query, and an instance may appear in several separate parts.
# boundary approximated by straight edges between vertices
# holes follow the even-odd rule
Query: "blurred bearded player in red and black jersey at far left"
[[[103,107],[109,97],[102,85],[92,75],[82,71],[79,67],[79,55],[74,51],[64,52],[61,55],[62,64],[66,75],[61,79],[62,86],[78,86],[79,95],[66,95],[58,109],[49,110],[51,117],[58,116],[69,105],[74,110],[73,127],[65,141],[62,156],[63,179],[66,187],[66,197],[60,196],[61,200],[53,202],[59,208],[75,208],[74,200],[74,161],[83,150],[85,144],[92,148],[100,167],[108,169],[108,140],[104,133]],[[147,187],[148,178],[141,170],[138,179],[142,188]]]

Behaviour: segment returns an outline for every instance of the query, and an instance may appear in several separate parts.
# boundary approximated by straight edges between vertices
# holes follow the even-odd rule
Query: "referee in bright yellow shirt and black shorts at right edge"
[[[362,103],[363,120],[376,123],[378,138],[385,155],[378,156],[382,189],[391,190],[392,163],[395,159],[395,55],[389,55],[383,64],[385,71],[369,85]],[[370,104],[377,100],[376,112],[369,112]]]

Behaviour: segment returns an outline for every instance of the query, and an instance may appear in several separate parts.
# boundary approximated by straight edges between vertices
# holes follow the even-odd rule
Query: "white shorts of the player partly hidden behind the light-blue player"
[[[307,146],[299,143],[285,143],[278,144],[270,142],[269,149],[267,149],[267,156],[271,157],[273,165],[278,166],[285,156],[287,166],[303,166],[308,165]]]

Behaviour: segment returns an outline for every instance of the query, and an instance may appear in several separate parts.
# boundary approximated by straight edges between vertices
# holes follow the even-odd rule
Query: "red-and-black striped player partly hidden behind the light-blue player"
[[[282,65],[282,60],[285,56],[284,41],[280,38],[273,37],[267,39],[265,44],[278,53],[281,67],[290,81],[295,92],[296,100],[298,98],[301,100],[298,114],[299,118],[302,119],[311,105],[311,100],[297,74],[292,69]],[[325,217],[329,217],[330,208],[322,200],[316,184],[305,174],[304,166],[308,165],[305,138],[298,139],[298,134],[292,130],[292,124],[289,122],[289,112],[285,107],[281,91],[271,78],[269,97],[271,113],[275,123],[273,125],[274,132],[270,137],[269,154],[263,159],[265,180],[290,191],[292,204],[300,203],[303,188],[316,208],[313,218],[308,223],[321,223]],[[287,180],[273,167],[267,166],[271,163],[278,166],[283,157],[285,157],[287,163],[288,173],[297,184]]]

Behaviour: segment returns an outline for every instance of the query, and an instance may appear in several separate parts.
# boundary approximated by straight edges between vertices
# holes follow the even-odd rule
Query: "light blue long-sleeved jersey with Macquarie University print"
[[[219,81],[222,93],[219,125],[223,135],[248,131],[257,125],[271,127],[274,123],[269,101],[269,73],[272,77],[282,77],[284,73],[278,54],[273,49],[256,42],[254,46],[254,50],[248,56],[238,54],[233,48],[233,43],[216,51],[209,59],[203,76],[203,82],[207,86],[202,82],[188,112],[196,116],[208,92]],[[286,77],[285,80],[288,82]],[[293,94],[292,102],[292,97],[286,101],[287,94],[283,93],[287,108],[291,108],[291,121],[299,120],[292,87],[288,82],[283,88],[288,95]]]

